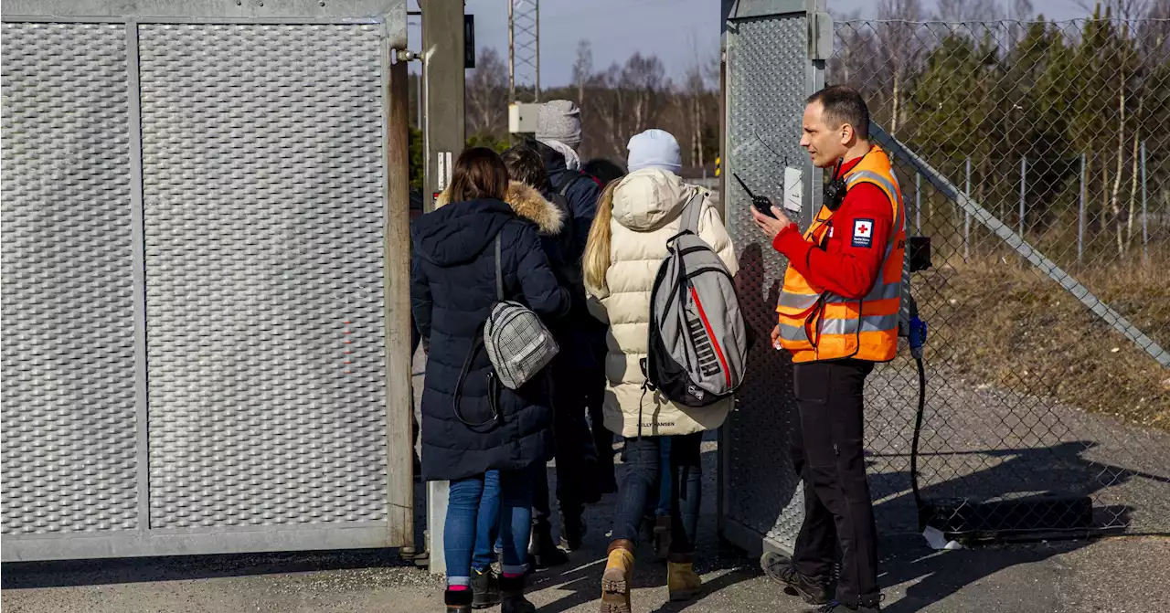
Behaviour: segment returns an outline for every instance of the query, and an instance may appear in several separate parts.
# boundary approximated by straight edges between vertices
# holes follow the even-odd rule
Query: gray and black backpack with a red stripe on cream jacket
[[[682,211],[651,294],[646,386],[688,407],[710,406],[743,383],[748,335],[735,283],[718,254],[698,237],[703,194]]]

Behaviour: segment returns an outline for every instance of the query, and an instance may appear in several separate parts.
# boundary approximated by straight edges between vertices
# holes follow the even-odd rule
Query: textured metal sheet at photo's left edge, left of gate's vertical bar
[[[0,535],[138,526],[125,33],[0,23]]]

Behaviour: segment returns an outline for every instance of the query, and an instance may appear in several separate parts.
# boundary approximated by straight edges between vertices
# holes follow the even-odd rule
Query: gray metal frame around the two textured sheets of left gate
[[[102,532],[0,536],[0,563],[142,556],[411,547],[414,545],[411,432],[408,143],[406,138],[406,0],[0,0],[0,23],[109,23],[126,27],[135,299],[135,390],[138,528]],[[384,367],[386,372],[386,519],[378,522],[150,528],[145,259],[138,26],[378,25],[383,146]],[[392,83],[393,81],[393,83]],[[401,96],[402,99],[392,99]],[[404,408],[405,407],[405,408]]]

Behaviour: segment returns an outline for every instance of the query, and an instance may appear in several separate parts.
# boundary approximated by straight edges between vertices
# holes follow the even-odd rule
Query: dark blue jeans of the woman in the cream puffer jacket
[[[629,469],[618,488],[618,504],[613,514],[613,540],[638,542],[638,525],[647,502],[661,494],[662,442],[666,436],[626,439],[625,461]],[[700,446],[703,433],[669,438],[669,469],[666,470],[670,488],[670,552],[694,553],[695,532],[698,529],[698,508],[702,496],[703,469]]]

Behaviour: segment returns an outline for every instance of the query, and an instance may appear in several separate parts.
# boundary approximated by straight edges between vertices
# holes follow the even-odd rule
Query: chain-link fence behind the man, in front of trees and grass
[[[861,90],[904,145],[908,230],[934,246],[913,278],[930,326],[922,521],[1170,530],[1170,370],[1154,359],[1170,358],[1170,21],[835,36],[826,81]],[[908,528],[917,372],[900,359],[870,379],[874,498]]]

